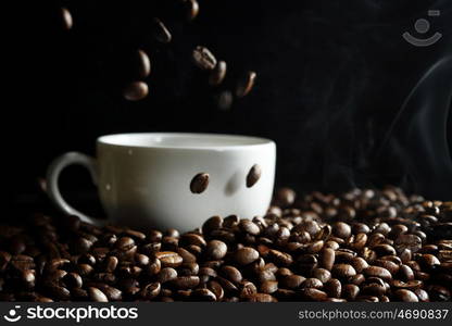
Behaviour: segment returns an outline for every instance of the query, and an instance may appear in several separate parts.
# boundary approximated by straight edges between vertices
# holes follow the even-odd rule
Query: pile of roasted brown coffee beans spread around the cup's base
[[[185,234],[43,214],[0,227],[5,301],[425,302],[451,287],[452,202],[395,187],[284,188],[265,216]]]

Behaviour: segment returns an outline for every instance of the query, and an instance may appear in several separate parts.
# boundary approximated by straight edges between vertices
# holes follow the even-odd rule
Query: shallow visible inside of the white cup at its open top
[[[185,133],[117,134],[102,136],[98,141],[112,146],[172,149],[237,149],[273,142],[251,136]]]

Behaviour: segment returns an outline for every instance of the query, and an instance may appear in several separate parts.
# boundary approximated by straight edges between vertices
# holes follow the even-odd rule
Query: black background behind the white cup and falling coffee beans
[[[199,2],[191,23],[178,12],[177,0],[17,2],[7,11],[15,22],[7,29],[12,59],[3,63],[14,68],[2,120],[3,130],[13,130],[3,137],[8,204],[33,203],[36,178],[65,151],[95,154],[100,135],[160,130],[269,137],[278,146],[277,184],[299,190],[391,183],[452,198],[448,151],[419,136],[426,139],[419,146],[431,149],[429,161],[445,163],[439,175],[428,163],[413,175],[407,166],[423,164],[425,151],[412,145],[400,150],[405,145],[392,146],[389,133],[416,83],[452,54],[451,1]],[[73,14],[72,30],[61,28],[62,5]],[[441,16],[427,17],[429,9],[441,10]],[[172,43],[152,39],[154,16],[172,30]],[[431,23],[428,36],[443,34],[438,43],[415,48],[403,40],[405,30],[420,37],[413,27],[420,17]],[[228,63],[219,89],[209,87],[191,63],[197,45]],[[138,48],[151,58],[150,95],[128,102],[122,88],[134,79],[129,58]],[[258,73],[255,88],[229,112],[217,110],[214,96],[234,89],[247,70]],[[431,91],[451,95],[452,86]],[[426,114],[442,110],[444,116],[449,109],[450,102],[431,104]],[[405,118],[395,125],[399,133],[409,129]],[[449,143],[451,125],[435,127]],[[63,188],[92,198],[80,168],[67,170]]]

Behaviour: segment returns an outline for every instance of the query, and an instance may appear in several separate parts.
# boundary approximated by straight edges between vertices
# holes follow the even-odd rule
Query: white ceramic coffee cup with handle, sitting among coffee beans
[[[122,134],[97,140],[97,159],[68,152],[56,158],[47,173],[47,191],[66,214],[91,218],[62,198],[61,171],[81,164],[98,186],[109,222],[136,228],[158,227],[190,230],[212,215],[237,214],[252,218],[265,214],[272,199],[276,163],[275,142],[264,138],[216,134]],[[250,168],[259,164],[262,175],[248,188]],[[202,193],[192,193],[190,183],[208,173]]]

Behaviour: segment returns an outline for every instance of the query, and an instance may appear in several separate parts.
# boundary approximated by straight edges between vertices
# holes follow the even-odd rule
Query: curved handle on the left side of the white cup
[[[47,195],[49,196],[52,203],[56,206],[56,209],[61,212],[68,215],[77,215],[84,222],[101,226],[103,225],[101,221],[92,218],[77,211],[71,206],[61,196],[59,188],[60,173],[66,166],[72,164],[79,164],[88,168],[89,173],[91,174],[93,184],[97,185],[98,172],[96,160],[79,152],[68,152],[54,159],[47,168]]]

